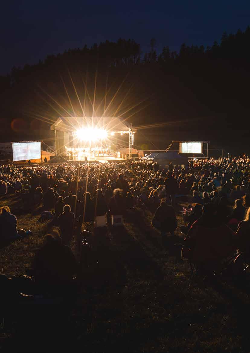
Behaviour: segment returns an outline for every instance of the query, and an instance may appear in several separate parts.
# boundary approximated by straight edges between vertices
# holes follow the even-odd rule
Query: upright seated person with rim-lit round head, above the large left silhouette
[[[64,244],[68,244],[73,236],[75,215],[71,212],[70,205],[65,205],[63,213],[57,219]]]

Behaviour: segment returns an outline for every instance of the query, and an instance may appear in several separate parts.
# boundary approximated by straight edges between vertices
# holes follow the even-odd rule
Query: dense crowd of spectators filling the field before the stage
[[[151,210],[152,226],[162,235],[174,235],[178,200],[189,198],[186,224],[180,227],[186,234],[185,257],[195,257],[200,247],[204,258],[219,251],[224,256],[236,249],[250,249],[249,167],[246,156],[193,159],[186,167],[169,163],[164,168],[143,160],[34,167],[8,164],[0,166],[0,195],[5,199],[18,194],[25,211],[40,207],[41,216],[51,215],[62,240],[57,235],[47,240],[57,245],[60,241],[69,244],[74,227],[81,231],[83,224],[98,216],[122,215],[135,205]],[[1,208],[0,227],[0,239],[13,240],[23,234],[8,207]],[[211,234],[215,248],[205,245]]]

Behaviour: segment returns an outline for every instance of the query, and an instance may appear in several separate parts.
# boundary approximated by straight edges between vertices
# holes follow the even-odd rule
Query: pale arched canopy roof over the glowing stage
[[[74,132],[83,127],[93,127],[104,129],[114,132],[128,132],[129,124],[127,121],[122,121],[120,118],[107,118],[107,117],[75,117],[75,116],[62,116],[58,118],[54,124],[51,125],[51,130]]]

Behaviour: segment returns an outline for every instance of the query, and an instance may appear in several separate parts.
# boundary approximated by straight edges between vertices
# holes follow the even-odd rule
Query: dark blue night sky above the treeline
[[[150,38],[164,45],[211,45],[223,31],[245,30],[250,1],[5,1],[1,4],[0,74],[48,54],[133,38],[143,51]]]

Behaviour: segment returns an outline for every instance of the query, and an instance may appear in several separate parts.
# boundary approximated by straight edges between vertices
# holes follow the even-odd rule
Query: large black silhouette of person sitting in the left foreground
[[[32,272],[41,293],[72,291],[73,276],[78,263],[69,246],[63,245],[59,231],[54,229],[45,236],[42,247],[37,251]]]

